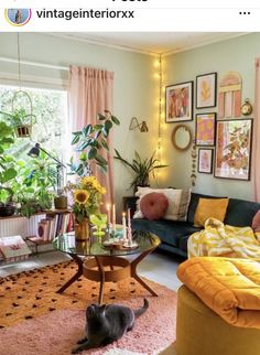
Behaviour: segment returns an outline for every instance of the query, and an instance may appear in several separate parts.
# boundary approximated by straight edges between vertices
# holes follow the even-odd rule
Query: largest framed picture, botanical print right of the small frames
[[[215,176],[250,180],[252,119],[217,121]]]

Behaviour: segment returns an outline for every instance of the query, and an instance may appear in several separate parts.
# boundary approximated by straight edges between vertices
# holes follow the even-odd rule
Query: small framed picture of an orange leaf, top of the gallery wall
[[[217,73],[196,76],[196,108],[215,107],[217,104]]]

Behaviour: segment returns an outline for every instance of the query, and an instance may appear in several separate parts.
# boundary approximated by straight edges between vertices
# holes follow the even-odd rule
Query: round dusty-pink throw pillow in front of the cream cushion
[[[169,201],[164,194],[152,192],[140,201],[140,209],[143,216],[150,220],[162,218],[167,211]]]

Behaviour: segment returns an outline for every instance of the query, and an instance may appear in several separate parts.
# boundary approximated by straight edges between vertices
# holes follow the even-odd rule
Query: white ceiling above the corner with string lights
[[[170,54],[243,34],[241,32],[75,32],[56,35],[147,54]]]

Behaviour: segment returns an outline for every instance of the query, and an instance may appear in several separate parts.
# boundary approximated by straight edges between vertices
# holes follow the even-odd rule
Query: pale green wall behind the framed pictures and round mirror
[[[242,76],[242,99],[254,100],[254,58],[260,55],[260,33],[247,34],[232,40],[218,42],[204,47],[173,54],[164,58],[164,83],[172,85],[194,80],[194,94],[196,75],[217,72],[218,80],[229,71],[239,72]],[[195,99],[195,95],[194,95]],[[195,108],[194,120],[187,123],[194,132],[195,115],[197,112],[217,112],[216,108]],[[253,116],[253,115],[252,115]],[[250,117],[252,117],[250,116]],[[170,164],[164,185],[180,187],[191,186],[192,159],[191,150],[177,152],[171,143],[172,130],[176,123],[166,123],[163,137],[165,160]],[[252,182],[217,179],[209,174],[196,173],[196,192],[234,196],[251,200]]]

